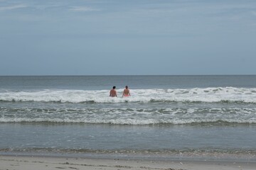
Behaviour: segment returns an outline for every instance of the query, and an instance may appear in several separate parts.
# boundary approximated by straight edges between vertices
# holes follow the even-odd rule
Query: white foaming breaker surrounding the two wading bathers
[[[0,90],[1,102],[59,102],[59,103],[154,103],[154,102],[206,102],[206,103],[256,103],[256,89],[218,87],[194,89],[134,89],[132,96],[122,98],[122,89],[117,98],[109,97],[108,90],[60,90],[40,91]]]

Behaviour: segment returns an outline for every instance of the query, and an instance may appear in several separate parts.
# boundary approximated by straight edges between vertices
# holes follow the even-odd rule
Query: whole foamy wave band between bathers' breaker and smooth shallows
[[[4,108],[0,123],[256,124],[256,108]]]

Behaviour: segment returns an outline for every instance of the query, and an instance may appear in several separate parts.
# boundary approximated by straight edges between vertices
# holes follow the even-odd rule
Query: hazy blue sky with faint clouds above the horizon
[[[0,0],[0,75],[256,74],[255,0]]]

